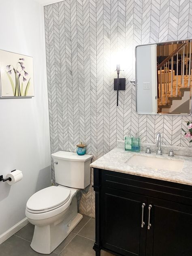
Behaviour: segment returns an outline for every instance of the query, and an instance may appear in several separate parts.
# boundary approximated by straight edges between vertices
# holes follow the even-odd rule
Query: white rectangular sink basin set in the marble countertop
[[[179,172],[183,169],[184,160],[178,160],[174,158],[164,158],[162,156],[143,156],[133,155],[128,160],[127,164],[134,166],[142,166],[147,168],[153,168],[154,170],[161,169],[165,171]]]

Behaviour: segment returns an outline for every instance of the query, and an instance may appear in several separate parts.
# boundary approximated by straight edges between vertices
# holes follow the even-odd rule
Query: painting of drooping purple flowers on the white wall
[[[0,50],[0,97],[33,96],[33,58]]]

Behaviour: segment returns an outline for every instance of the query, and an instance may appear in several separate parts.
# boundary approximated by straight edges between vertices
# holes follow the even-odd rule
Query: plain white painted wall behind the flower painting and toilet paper
[[[35,97],[0,99],[0,235],[25,218],[28,198],[51,183],[43,6],[33,0],[0,0],[0,49],[34,57]]]

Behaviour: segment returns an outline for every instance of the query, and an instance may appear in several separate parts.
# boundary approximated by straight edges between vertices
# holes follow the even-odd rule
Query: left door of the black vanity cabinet
[[[145,207],[142,208],[143,204]],[[102,247],[124,256],[144,256],[146,205],[145,196],[103,187],[100,211]]]

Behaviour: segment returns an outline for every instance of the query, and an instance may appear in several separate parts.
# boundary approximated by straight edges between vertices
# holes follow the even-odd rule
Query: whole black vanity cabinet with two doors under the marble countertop
[[[192,256],[192,186],[94,168],[94,250]]]

